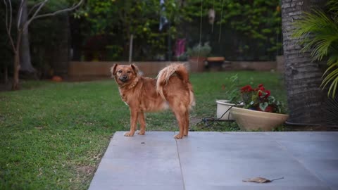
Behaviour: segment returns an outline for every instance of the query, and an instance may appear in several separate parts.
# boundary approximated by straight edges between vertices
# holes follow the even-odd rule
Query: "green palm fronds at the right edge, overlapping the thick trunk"
[[[317,9],[304,13],[301,20],[294,23],[294,37],[299,38],[303,52],[311,51],[313,60],[322,61],[327,57],[328,68],[321,87],[324,89],[330,84],[327,95],[333,98],[338,85],[338,3],[331,0],[327,6],[327,13]]]

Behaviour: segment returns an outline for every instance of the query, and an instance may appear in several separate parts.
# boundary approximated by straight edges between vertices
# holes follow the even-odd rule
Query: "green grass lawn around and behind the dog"
[[[236,73],[239,86],[263,83],[285,102],[276,73],[192,74],[193,129],[200,129],[194,124],[202,118],[215,117],[215,99],[224,99],[222,85],[229,87]],[[148,130],[177,130],[171,113],[149,113],[146,122]],[[23,82],[20,91],[0,92],[0,189],[87,189],[113,133],[128,129],[129,110],[113,80]]]

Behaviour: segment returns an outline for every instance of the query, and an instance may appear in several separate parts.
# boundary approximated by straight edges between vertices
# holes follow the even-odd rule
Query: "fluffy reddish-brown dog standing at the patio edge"
[[[194,92],[189,82],[187,68],[183,64],[173,63],[158,73],[157,79],[142,77],[136,65],[118,65],[111,68],[122,100],[130,108],[130,132],[132,137],[140,125],[138,134],[146,131],[144,112],[173,110],[180,127],[176,139],[182,139],[189,131],[189,110],[194,106]]]

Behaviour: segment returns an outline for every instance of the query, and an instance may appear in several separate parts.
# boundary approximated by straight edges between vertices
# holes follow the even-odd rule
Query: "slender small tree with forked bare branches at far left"
[[[5,24],[6,24],[6,32],[8,34],[9,41],[11,43],[11,48],[13,50],[14,54],[14,61],[13,61],[13,85],[12,89],[18,89],[19,84],[19,70],[20,70],[20,44],[21,39],[23,37],[24,32],[27,30],[30,23],[32,23],[33,20],[37,18],[45,18],[48,16],[56,15],[58,13],[63,13],[66,11],[73,11],[75,8],[79,7],[84,0],[80,0],[77,4],[74,4],[70,8],[64,8],[58,11],[54,11],[52,13],[45,13],[45,14],[39,14],[41,9],[46,5],[46,3],[49,0],[39,1],[37,4],[32,6],[30,8],[30,11],[28,11],[27,20],[23,20],[23,12],[25,11],[25,5],[27,5],[27,0],[21,0],[20,5],[18,7],[18,13],[16,15],[16,22],[15,22],[15,29],[16,29],[16,37],[13,38],[12,33],[12,2],[11,0],[3,0],[5,5]]]

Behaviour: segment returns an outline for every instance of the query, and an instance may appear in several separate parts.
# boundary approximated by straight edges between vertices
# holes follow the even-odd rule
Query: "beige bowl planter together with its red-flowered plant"
[[[288,115],[282,114],[282,103],[271,96],[263,84],[259,84],[256,89],[246,85],[240,92],[244,108],[232,108],[231,114],[242,130],[271,131],[287,120]]]

